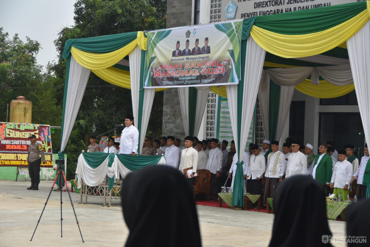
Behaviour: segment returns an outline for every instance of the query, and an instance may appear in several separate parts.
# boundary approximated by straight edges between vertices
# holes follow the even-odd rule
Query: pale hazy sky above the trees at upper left
[[[37,63],[46,66],[57,60],[53,41],[65,26],[73,26],[75,0],[0,0],[0,27],[9,33],[9,38],[19,34],[41,44]]]

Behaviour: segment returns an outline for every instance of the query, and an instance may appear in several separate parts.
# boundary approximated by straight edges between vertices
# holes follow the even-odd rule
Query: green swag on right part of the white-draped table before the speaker
[[[157,165],[161,156],[116,155],[129,170],[138,171],[145,166]]]

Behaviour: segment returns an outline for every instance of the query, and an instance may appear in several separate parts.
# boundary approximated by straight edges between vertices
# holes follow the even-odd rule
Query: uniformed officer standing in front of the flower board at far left
[[[36,135],[30,135],[31,144],[28,147],[28,173],[31,177],[31,186],[27,190],[38,190],[40,183],[40,165],[41,159],[45,163],[45,153],[42,145],[36,142]],[[41,158],[40,158],[41,154]]]

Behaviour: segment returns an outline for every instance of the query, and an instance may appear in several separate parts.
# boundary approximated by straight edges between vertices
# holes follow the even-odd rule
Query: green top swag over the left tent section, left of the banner
[[[91,53],[109,53],[118,50],[135,40],[137,38],[137,33],[138,32],[130,32],[67,40],[64,45],[63,59],[68,58],[72,46],[78,50]]]

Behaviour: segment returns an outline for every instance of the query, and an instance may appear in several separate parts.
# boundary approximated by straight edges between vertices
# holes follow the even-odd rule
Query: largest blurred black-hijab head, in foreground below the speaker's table
[[[129,173],[122,211],[130,231],[125,247],[200,247],[198,214],[185,176],[168,166]]]

